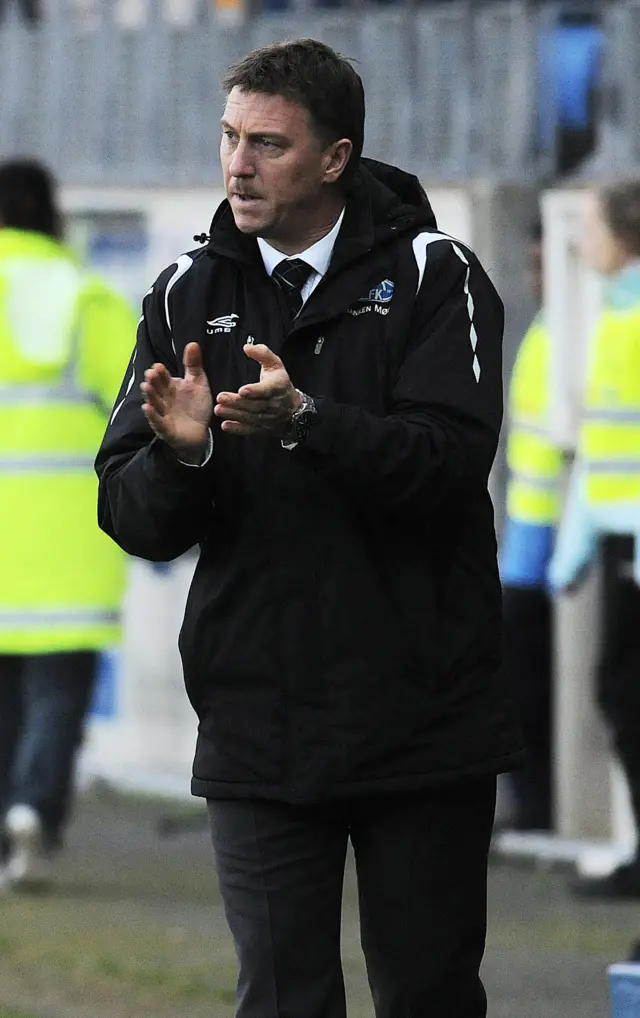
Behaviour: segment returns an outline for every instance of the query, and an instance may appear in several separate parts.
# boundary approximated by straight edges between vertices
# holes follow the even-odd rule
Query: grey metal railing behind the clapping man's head
[[[454,0],[229,24],[214,16],[171,21],[166,4],[152,3],[146,18],[123,24],[116,5],[79,18],[63,3],[36,27],[16,18],[0,25],[0,158],[41,157],[66,183],[217,182],[224,69],[255,46],[300,35],[358,61],[365,151],[376,158],[440,180],[548,174],[536,48],[555,7]],[[640,6],[615,5],[605,25],[627,162],[637,164]]]

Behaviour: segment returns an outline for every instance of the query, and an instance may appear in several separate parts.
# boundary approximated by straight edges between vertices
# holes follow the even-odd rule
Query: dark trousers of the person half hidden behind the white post
[[[505,663],[520,711],[527,758],[509,775],[516,800],[514,826],[552,826],[552,610],[539,587],[503,590]]]

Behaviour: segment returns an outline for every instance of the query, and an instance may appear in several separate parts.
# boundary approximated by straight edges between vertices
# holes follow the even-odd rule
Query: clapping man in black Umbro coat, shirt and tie
[[[200,548],[180,649],[240,1018],[345,1015],[349,839],[379,1018],[480,1018],[520,754],[487,494],[503,306],[417,180],[360,158],[346,60],[271,46],[225,89],[228,201],[144,298],[101,525],[154,561]]]

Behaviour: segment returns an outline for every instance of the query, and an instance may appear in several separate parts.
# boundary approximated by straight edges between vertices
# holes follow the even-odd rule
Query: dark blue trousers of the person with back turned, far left
[[[0,656],[0,815],[17,802],[62,835],[97,672],[93,652]]]

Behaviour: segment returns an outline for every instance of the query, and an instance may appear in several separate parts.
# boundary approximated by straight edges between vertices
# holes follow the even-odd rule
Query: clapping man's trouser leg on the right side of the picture
[[[362,947],[376,1018],[485,1018],[479,976],[496,778],[354,807]]]

